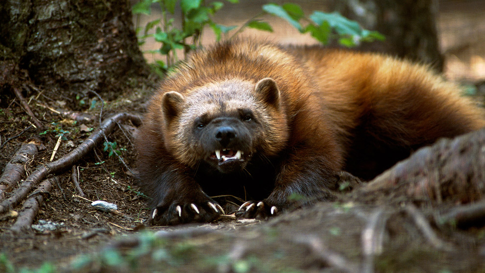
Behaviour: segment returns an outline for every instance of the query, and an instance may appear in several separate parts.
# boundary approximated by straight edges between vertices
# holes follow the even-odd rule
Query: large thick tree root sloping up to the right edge
[[[442,139],[413,153],[355,192],[358,198],[439,204],[468,203],[485,195],[485,129]]]

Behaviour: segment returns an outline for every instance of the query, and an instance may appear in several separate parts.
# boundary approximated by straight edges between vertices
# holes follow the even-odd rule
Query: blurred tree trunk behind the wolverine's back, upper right
[[[365,43],[362,50],[386,52],[442,71],[436,30],[437,0],[337,0],[333,8],[386,36],[385,42]]]

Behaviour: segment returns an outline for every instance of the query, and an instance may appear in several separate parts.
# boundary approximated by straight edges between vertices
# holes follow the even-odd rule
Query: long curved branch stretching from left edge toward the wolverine
[[[141,119],[139,116],[129,113],[119,113],[106,119],[99,126],[99,128],[94,131],[88,139],[83,141],[76,149],[73,149],[71,152],[56,161],[49,162],[46,165],[38,167],[32,174],[30,174],[10,198],[5,199],[0,203],[0,213],[8,211],[12,206],[23,200],[32,190],[32,188],[42,179],[44,179],[46,175],[55,174],[59,171],[70,168],[73,164],[77,163],[77,161],[79,161],[102,141],[105,134],[110,133],[116,127],[117,121],[122,122],[126,120],[131,120],[135,124],[141,124]]]

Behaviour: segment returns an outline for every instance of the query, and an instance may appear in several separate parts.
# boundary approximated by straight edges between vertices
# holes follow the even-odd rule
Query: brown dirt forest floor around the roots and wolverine
[[[446,52],[453,55],[453,50]],[[467,75],[480,80],[479,72],[484,70],[474,69],[478,72],[470,70]],[[121,111],[143,112],[154,86],[133,84],[133,91],[106,101],[103,118]],[[37,138],[45,149],[26,165],[30,174],[49,162],[62,130],[69,133],[64,134],[54,160],[77,147],[99,125],[101,102],[96,98],[77,101],[89,119],[74,123],[62,114],[71,110],[65,98],[49,91],[24,95],[46,124],[46,132],[30,128],[4,144],[30,123],[13,95],[0,94],[0,144],[4,144],[0,170],[22,144]],[[132,124],[123,123],[108,136],[130,168],[136,157],[133,130]],[[44,197],[34,224],[50,221],[60,224],[57,229],[15,234],[10,227],[16,217],[0,215],[0,272],[22,268],[38,272],[485,272],[483,223],[457,226],[435,219],[459,205],[453,199],[440,204],[385,195],[358,199],[354,189],[336,193],[337,201],[269,221],[226,216],[209,224],[147,226],[149,210],[133,175],[103,148],[98,145],[77,164],[84,198],[75,191],[70,170],[58,175],[58,183]],[[95,200],[114,203],[118,210],[100,211],[91,206]],[[418,212],[413,204],[418,204]],[[225,209],[231,214],[236,207],[227,203]],[[20,212],[21,206],[13,210]]]

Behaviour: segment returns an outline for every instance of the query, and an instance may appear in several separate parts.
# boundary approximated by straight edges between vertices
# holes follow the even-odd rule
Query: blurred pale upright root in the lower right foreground
[[[387,217],[383,216],[383,214],[384,211],[382,208],[376,209],[370,215],[362,231],[361,240],[364,252],[364,263],[361,272],[363,273],[374,272],[374,255],[382,252],[387,222]]]

